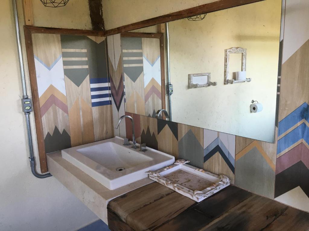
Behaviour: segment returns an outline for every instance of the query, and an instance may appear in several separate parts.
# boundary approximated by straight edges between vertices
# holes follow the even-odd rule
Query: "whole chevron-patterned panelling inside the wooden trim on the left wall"
[[[113,137],[105,37],[32,34],[32,43],[45,153]]]

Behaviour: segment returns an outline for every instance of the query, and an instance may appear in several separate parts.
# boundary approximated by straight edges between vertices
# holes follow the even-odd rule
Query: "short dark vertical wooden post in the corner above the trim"
[[[88,0],[93,30],[104,30],[102,0]]]

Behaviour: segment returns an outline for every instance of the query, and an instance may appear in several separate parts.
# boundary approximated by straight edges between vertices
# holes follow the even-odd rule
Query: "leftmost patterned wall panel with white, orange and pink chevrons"
[[[45,152],[71,147],[60,35],[32,34]]]

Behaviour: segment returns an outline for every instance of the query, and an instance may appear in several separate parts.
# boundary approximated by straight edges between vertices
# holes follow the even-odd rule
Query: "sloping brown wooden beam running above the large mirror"
[[[180,10],[171,14],[165,14],[162,16],[158,16],[155,18],[146,19],[140,22],[135,22],[129,25],[120,26],[114,29],[105,30],[104,35],[112,35],[112,34],[119,34],[125,31],[136,30],[139,28],[157,25],[159,23],[170,22],[182,18],[187,18],[190,16],[210,13],[217,10],[224,10],[227,8],[235,7],[235,6],[242,6],[253,2],[261,2],[265,0],[219,0],[216,2],[207,3],[201,6],[195,6],[186,10]]]

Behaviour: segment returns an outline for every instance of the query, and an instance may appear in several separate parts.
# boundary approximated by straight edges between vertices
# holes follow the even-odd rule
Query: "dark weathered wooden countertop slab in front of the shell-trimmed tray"
[[[112,231],[309,231],[309,213],[229,186],[197,203],[157,183],[108,204]]]

